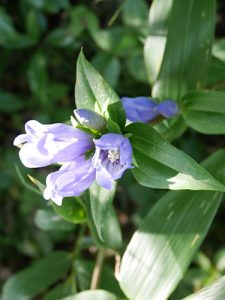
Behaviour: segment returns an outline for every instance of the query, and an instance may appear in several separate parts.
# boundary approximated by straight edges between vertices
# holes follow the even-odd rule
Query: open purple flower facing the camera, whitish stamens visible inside
[[[94,140],[95,154],[92,159],[96,169],[96,181],[110,190],[113,181],[119,179],[126,169],[132,168],[132,147],[128,138],[115,133]]]

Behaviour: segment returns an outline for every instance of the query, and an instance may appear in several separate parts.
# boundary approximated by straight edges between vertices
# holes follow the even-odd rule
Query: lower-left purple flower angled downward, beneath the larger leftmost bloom
[[[63,197],[79,196],[94,180],[95,170],[91,159],[85,160],[84,156],[80,156],[47,176],[44,198],[61,205]]]

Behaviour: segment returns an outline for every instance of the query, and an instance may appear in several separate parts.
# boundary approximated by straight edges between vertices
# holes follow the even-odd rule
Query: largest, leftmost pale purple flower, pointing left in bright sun
[[[60,123],[43,125],[31,120],[25,131],[15,138],[14,145],[23,144],[19,156],[28,168],[70,162],[93,147],[91,135]]]

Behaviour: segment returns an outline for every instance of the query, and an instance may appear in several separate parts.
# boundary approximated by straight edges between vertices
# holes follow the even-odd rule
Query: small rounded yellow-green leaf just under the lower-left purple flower
[[[63,219],[72,223],[86,222],[86,210],[84,204],[78,197],[65,198],[61,206],[51,202],[54,211]]]

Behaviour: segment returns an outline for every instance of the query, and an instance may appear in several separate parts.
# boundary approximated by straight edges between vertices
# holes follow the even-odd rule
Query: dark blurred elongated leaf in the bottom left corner
[[[30,300],[59,280],[71,264],[67,252],[53,252],[27,269],[10,277],[4,287],[2,300]]]

